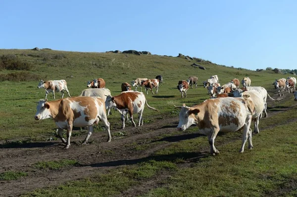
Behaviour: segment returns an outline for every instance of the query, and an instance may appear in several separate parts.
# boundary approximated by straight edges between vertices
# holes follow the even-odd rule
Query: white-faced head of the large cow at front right
[[[179,123],[177,126],[177,130],[184,131],[189,128],[192,124],[195,124],[195,116],[198,115],[198,109],[191,109],[187,107],[185,104],[183,106],[174,106],[176,108],[181,109],[179,114]]]

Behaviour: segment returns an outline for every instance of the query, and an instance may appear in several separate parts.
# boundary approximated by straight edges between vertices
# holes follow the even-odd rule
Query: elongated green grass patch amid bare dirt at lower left
[[[73,159],[62,159],[59,161],[40,161],[33,166],[44,170],[59,170],[67,166],[78,166],[79,163]]]

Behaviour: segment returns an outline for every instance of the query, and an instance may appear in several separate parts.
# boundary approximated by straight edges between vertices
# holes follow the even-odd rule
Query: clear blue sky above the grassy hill
[[[178,53],[297,69],[297,0],[2,0],[0,48]]]

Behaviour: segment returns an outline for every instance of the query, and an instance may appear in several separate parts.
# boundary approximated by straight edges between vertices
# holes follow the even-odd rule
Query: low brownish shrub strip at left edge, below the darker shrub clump
[[[29,72],[20,72],[20,73],[9,73],[9,74],[0,74],[0,81],[32,81],[39,80],[40,77],[36,74]]]

